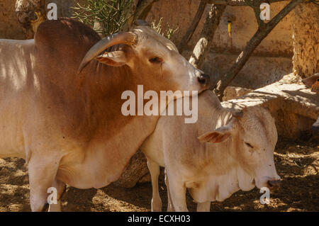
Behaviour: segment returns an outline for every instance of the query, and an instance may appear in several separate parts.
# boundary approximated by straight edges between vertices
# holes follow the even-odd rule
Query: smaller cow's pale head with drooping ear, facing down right
[[[274,118],[262,107],[245,108],[223,127],[198,137],[206,142],[231,142],[232,157],[238,164],[239,186],[248,191],[258,188],[278,188],[280,177],[274,164],[274,147],[277,142]],[[231,139],[231,140],[230,140]]]

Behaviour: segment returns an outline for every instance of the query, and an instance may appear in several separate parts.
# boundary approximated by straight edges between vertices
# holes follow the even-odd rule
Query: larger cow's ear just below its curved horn
[[[123,51],[106,52],[97,56],[96,60],[112,67],[121,67],[126,64],[125,52]]]

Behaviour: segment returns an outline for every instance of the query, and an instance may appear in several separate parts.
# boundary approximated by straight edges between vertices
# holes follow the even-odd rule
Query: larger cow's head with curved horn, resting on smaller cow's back
[[[117,51],[104,52],[114,45]],[[140,84],[155,91],[203,91],[209,84],[208,75],[182,57],[174,43],[141,21],[135,29],[110,35],[91,47],[79,72],[94,59],[112,67],[127,65]]]

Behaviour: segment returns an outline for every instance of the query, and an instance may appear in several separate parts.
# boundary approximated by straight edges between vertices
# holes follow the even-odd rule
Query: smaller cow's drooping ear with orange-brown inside
[[[210,132],[206,132],[198,137],[201,142],[220,143],[227,140],[232,135],[232,128],[229,125],[218,128]]]

